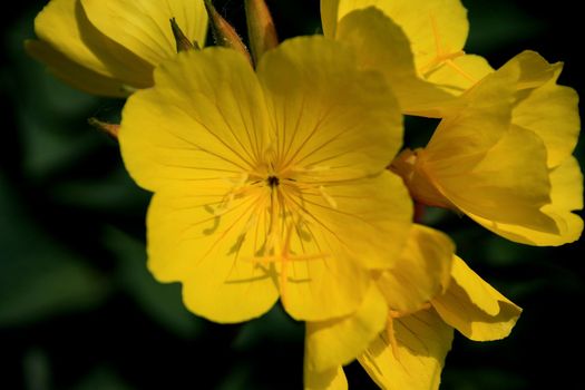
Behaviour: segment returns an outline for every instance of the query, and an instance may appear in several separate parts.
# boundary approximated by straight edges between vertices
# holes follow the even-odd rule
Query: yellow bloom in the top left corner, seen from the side
[[[27,51],[84,91],[125,97],[153,85],[153,69],[177,49],[170,19],[205,42],[203,0],[51,0],[35,19]]]

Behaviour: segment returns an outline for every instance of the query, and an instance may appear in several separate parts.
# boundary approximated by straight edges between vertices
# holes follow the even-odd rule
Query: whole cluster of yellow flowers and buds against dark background
[[[246,0],[252,55],[211,1],[51,0],[31,56],[91,94],[129,96],[116,131],[154,193],[148,267],[221,323],[279,300],[306,324],[308,389],[435,389],[454,329],[503,339],[520,308],[416,209],[530,245],[576,241],[577,95],[525,51],[462,51],[459,0],[321,0],[323,36],[279,43]],[[201,49],[211,23],[218,47]],[[439,118],[403,148],[403,116]]]

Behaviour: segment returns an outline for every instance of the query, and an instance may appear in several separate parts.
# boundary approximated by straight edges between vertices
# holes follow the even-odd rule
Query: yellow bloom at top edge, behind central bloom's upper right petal
[[[407,114],[441,116],[441,107],[493,71],[464,52],[469,30],[459,0],[321,0],[326,37],[384,72]]]

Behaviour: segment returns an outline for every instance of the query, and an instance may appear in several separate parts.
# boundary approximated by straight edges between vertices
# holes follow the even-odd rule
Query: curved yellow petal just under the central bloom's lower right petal
[[[386,328],[388,306],[376,285],[352,315],[324,322],[308,322],[305,364],[322,372],[348,364],[361,354]]]

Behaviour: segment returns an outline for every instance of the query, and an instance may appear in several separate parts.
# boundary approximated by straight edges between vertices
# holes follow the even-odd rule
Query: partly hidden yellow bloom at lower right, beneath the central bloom
[[[342,337],[352,328],[370,337],[368,345],[360,344],[363,352],[358,360],[381,389],[438,389],[454,329],[475,341],[499,340],[510,333],[521,309],[452,255],[452,246],[440,233],[420,227],[415,231],[418,233],[411,236],[401,264],[410,260],[411,265],[417,265],[415,270],[432,272],[427,277],[422,274],[412,277],[416,273],[404,277],[403,271],[397,269],[398,272],[389,270],[377,279],[388,305],[386,326],[367,326],[360,315],[328,324],[308,324],[306,389],[348,388],[342,369],[348,361],[332,364],[331,357],[355,348],[343,342]],[[408,305],[416,309],[404,310]],[[381,310],[370,305],[362,312],[367,308]],[[377,333],[373,331],[380,328]]]

